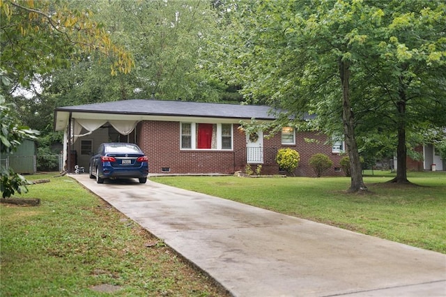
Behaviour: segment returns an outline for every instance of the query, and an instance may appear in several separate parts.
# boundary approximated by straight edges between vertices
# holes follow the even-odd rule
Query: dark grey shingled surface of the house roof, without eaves
[[[141,99],[59,107],[56,108],[56,112],[199,116],[227,119],[276,119],[272,108],[268,106]]]

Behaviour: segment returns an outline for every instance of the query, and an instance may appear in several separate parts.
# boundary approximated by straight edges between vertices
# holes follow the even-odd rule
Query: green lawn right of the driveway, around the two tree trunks
[[[446,254],[446,174],[365,172],[367,194],[348,194],[349,177],[162,176],[151,181]]]

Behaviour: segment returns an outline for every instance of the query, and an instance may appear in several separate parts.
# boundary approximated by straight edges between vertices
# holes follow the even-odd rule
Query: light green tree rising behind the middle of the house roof
[[[112,1],[110,28],[125,40],[137,61],[136,96],[193,101],[219,99],[222,86],[200,68],[199,59],[212,33],[210,1]]]

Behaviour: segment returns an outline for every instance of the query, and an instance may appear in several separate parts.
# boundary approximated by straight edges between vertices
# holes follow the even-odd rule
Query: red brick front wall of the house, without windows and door
[[[305,138],[316,139],[317,142],[305,142]],[[290,147],[300,153],[296,176],[316,176],[308,165],[309,158],[315,153],[325,153],[334,162],[333,168],[325,175],[343,176],[343,172],[334,172],[334,167],[340,167],[341,156],[332,153],[331,145],[324,144],[326,140],[325,135],[312,132],[297,133],[296,144],[292,146],[282,146],[280,134],[264,139],[262,174],[278,174],[275,154],[281,147]],[[244,132],[238,130],[238,124],[233,124],[233,151],[180,150],[180,123],[173,121],[142,121],[137,126],[137,144],[148,156],[149,172],[152,174],[232,174],[245,170],[246,137]]]

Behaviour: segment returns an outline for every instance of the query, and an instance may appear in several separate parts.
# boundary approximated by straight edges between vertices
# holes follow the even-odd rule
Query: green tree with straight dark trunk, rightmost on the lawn
[[[379,26],[367,36],[364,57],[370,100],[362,103],[364,122],[395,135],[396,183],[408,183],[408,135],[426,139],[426,130],[446,127],[446,3],[385,1]],[[368,112],[373,105],[373,112]],[[367,108],[366,108],[367,107]]]

